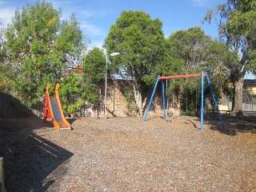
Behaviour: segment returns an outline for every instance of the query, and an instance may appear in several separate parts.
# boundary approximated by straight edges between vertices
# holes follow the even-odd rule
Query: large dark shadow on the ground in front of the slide
[[[43,181],[74,154],[34,134],[34,130],[51,131],[44,128],[53,127],[51,122],[40,118],[0,119],[0,125],[6,190],[46,191],[54,180]]]

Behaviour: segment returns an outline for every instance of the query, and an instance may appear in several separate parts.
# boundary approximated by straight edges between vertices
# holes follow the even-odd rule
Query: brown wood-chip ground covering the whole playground
[[[256,125],[158,116],[0,119],[8,191],[255,191]]]

